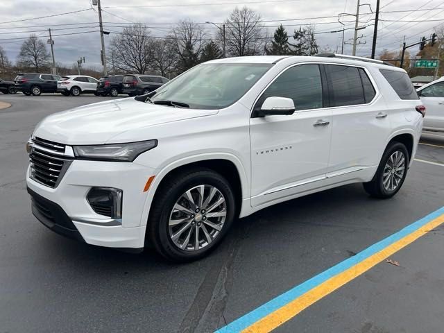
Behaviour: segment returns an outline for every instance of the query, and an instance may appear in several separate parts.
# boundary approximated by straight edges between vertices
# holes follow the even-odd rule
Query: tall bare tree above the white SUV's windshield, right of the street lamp
[[[235,8],[225,20],[226,49],[230,56],[257,56],[264,52],[266,31],[261,15],[244,6]],[[221,31],[219,40],[223,40]]]

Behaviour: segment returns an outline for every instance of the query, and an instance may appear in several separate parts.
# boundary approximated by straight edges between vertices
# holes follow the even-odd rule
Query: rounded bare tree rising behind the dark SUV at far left
[[[49,53],[46,50],[46,44],[39,40],[36,35],[30,35],[22,44],[17,64],[25,67],[34,67],[35,71],[39,71],[39,68],[47,65],[48,60]]]

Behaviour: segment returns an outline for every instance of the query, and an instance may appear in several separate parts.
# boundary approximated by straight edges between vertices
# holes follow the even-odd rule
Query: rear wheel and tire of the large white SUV
[[[364,182],[364,189],[375,198],[391,198],[402,187],[408,167],[409,152],[406,146],[400,142],[391,142],[382,155],[373,179]]]

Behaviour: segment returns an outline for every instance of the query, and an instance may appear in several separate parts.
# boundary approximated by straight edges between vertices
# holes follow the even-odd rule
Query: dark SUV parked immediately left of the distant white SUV
[[[60,76],[53,74],[23,73],[15,79],[15,89],[26,96],[33,94],[38,96],[42,92],[57,92],[57,81]]]

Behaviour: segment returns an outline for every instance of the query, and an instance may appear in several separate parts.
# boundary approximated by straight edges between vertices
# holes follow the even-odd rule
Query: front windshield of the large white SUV
[[[226,108],[241,98],[273,64],[202,64],[156,90],[157,101],[195,109]]]

